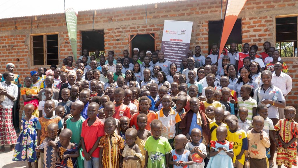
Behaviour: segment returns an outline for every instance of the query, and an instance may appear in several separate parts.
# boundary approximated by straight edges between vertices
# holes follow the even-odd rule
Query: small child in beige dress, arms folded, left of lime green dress
[[[129,128],[125,132],[126,145],[124,146],[123,168],[143,168],[140,161],[144,161],[145,157],[141,154],[139,146],[135,143],[138,136],[138,131],[134,128]]]

